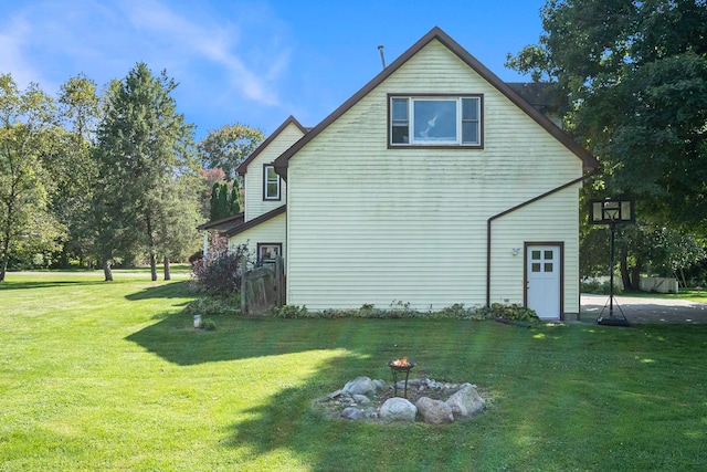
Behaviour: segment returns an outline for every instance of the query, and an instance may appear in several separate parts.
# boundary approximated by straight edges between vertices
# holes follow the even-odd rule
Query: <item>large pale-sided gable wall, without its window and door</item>
[[[388,93],[484,94],[484,149],[388,149]],[[289,159],[287,303],[312,310],[399,301],[418,310],[484,305],[487,219],[581,171],[578,157],[432,41]],[[558,210],[540,228],[534,218],[546,204]],[[508,243],[502,231],[521,248],[523,240],[546,234],[569,237],[566,276],[576,274],[577,211],[572,189],[500,219],[496,252]],[[504,228],[513,219],[528,219],[525,229]],[[551,230],[564,227],[567,234]],[[500,282],[514,264],[492,275],[500,284],[494,296],[523,300],[523,284]],[[523,279],[523,262],[518,274]],[[567,282],[566,289],[573,285]]]

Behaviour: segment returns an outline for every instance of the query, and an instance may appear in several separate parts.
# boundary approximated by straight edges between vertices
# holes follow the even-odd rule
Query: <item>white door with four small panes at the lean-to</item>
[[[560,317],[560,247],[528,245],[526,252],[528,308],[540,319]]]

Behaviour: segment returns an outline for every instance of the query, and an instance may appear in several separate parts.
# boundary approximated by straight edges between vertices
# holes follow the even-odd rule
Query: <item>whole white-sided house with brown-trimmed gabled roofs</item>
[[[228,234],[283,254],[287,303],[309,310],[572,317],[579,189],[598,167],[434,28],[316,127],[291,117],[264,141],[239,168],[245,218]]]

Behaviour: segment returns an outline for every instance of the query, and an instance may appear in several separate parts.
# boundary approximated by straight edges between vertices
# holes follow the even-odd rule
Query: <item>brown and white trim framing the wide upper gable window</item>
[[[392,119],[392,103],[394,98],[407,98],[409,107],[411,108],[410,101],[415,99],[456,99],[458,101],[457,107],[457,133],[458,139],[461,139],[462,125],[464,117],[462,116],[462,99],[463,98],[477,98],[478,99],[478,144],[463,144],[460,140],[457,143],[444,143],[444,144],[425,144],[425,143],[395,143],[393,144],[393,119]],[[413,126],[410,123],[411,113],[409,108],[408,113],[408,126]],[[484,94],[388,94],[387,103],[387,125],[388,125],[388,148],[389,149],[410,149],[410,148],[424,148],[424,149],[483,149],[484,148]]]

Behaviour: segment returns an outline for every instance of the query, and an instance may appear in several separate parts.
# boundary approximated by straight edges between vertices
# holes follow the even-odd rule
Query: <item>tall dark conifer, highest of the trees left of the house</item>
[[[176,87],[165,71],[154,76],[138,63],[123,81],[112,83],[97,132],[101,188],[94,208],[104,260],[144,250],[154,281],[160,229],[168,225],[167,209],[173,206],[171,186],[181,176],[196,175],[193,126],[177,112],[170,96]],[[197,208],[197,191],[184,198],[181,206]]]

